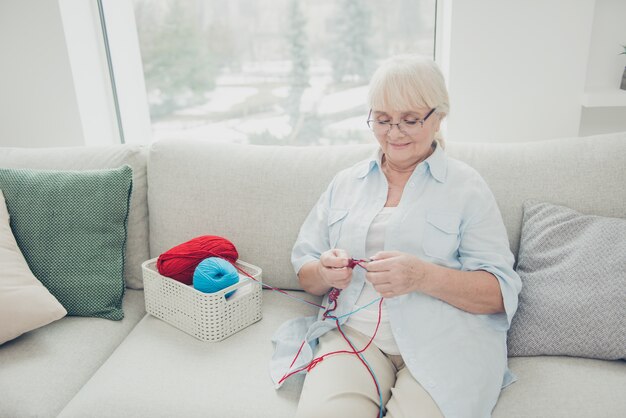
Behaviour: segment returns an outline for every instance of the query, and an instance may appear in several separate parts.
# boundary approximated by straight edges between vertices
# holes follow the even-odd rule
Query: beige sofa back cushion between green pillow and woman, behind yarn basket
[[[159,141],[148,165],[151,257],[218,235],[261,267],[265,282],[298,289],[290,259],[302,222],[333,175],[373,150]]]

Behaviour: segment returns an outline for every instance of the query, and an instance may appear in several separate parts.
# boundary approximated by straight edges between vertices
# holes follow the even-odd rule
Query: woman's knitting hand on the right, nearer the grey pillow
[[[381,251],[371,260],[364,264],[365,278],[385,298],[420,291],[426,285],[429,264],[413,255]]]

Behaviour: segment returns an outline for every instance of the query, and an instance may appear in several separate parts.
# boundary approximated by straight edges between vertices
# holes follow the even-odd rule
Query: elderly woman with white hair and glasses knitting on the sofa
[[[433,61],[387,60],[369,105],[380,148],[335,176],[293,248],[303,289],[331,296],[279,329],[273,378],[308,371],[298,417],[489,417],[521,288],[498,206],[444,152]]]

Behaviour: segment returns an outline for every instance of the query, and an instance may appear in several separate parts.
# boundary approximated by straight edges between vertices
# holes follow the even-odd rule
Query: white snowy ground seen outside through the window
[[[238,73],[223,74],[218,78],[215,90],[206,94],[205,103],[178,110],[167,119],[153,123],[154,140],[195,138],[247,143],[250,135],[271,135],[276,140],[290,137],[292,126],[282,106],[274,105],[269,111],[265,109],[245,116],[228,116],[236,114],[237,109],[249,101],[284,102],[289,96],[289,86],[285,82],[289,69],[288,62],[270,62],[244,66]],[[302,94],[300,109],[304,114],[315,114],[323,132],[311,143],[333,143],[335,139],[369,141],[371,135],[368,135],[365,123],[367,86],[328,93],[332,88],[328,65],[312,66],[310,73],[310,86]],[[262,89],[269,83],[277,87]],[[268,96],[259,98],[262,94]]]

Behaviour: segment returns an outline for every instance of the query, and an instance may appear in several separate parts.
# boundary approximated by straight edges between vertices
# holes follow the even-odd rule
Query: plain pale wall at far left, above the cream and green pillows
[[[81,145],[56,1],[0,1],[0,146]]]

